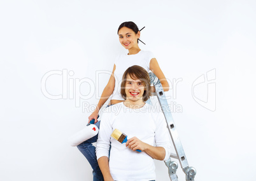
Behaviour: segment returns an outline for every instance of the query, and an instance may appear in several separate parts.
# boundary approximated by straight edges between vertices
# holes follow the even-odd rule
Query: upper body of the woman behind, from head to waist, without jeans
[[[92,119],[95,119],[97,122],[99,109],[101,109],[112,93],[114,94],[111,98],[111,104],[117,104],[124,101],[124,98],[120,96],[120,86],[118,85],[121,83],[124,71],[132,65],[140,65],[147,71],[151,70],[159,78],[164,91],[169,90],[169,84],[166,81],[166,77],[160,69],[157,59],[153,56],[153,53],[150,51],[143,51],[138,46],[138,39],[141,33],[139,32],[137,25],[134,22],[124,22],[119,26],[117,34],[120,43],[129,51],[129,53],[127,53],[127,55],[120,55],[117,57],[113,67],[112,76],[103,90],[99,103],[97,104],[97,108],[89,116],[89,122]],[[115,77],[117,77],[117,80]]]

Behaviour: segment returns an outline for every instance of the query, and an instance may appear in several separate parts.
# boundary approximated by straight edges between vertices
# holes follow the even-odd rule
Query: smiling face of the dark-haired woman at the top
[[[129,29],[127,27],[122,27],[118,31],[119,41],[124,46],[125,49],[129,50],[130,48],[134,46],[138,46],[138,39],[140,36],[140,32],[135,34],[135,32],[132,29]]]

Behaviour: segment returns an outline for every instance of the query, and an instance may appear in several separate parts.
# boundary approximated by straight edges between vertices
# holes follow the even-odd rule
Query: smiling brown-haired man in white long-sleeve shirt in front
[[[150,94],[148,72],[138,65],[129,67],[121,84],[125,101],[106,108],[101,118],[96,155],[105,181],[155,180],[153,159],[169,158],[171,140],[164,114],[145,103]],[[126,144],[110,136],[116,128],[129,138]]]

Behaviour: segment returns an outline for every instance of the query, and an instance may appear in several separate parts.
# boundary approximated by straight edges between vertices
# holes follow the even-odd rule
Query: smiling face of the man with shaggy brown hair
[[[145,87],[139,79],[132,79],[128,74],[125,83],[125,94],[126,100],[131,100],[136,102],[138,100],[143,100],[143,93]]]

